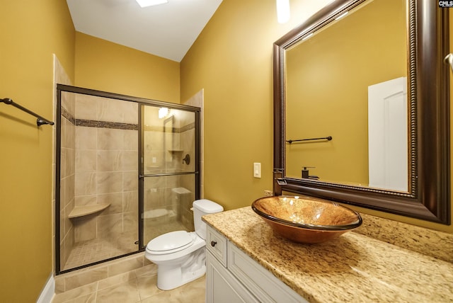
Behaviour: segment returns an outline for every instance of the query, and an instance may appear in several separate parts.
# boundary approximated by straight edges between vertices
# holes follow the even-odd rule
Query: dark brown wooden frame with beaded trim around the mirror
[[[408,193],[285,176],[285,50],[364,1],[334,1],[274,43],[274,195],[312,195],[450,224],[449,67],[443,62],[449,10],[437,1],[408,0]]]

